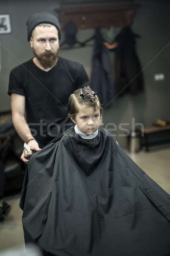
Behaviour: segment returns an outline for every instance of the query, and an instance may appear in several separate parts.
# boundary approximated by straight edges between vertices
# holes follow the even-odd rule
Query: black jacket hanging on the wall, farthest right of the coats
[[[130,27],[124,27],[115,38],[118,43],[114,49],[116,95],[121,96],[127,92],[137,94],[144,90],[141,64],[135,51],[137,37],[139,35],[135,35]]]

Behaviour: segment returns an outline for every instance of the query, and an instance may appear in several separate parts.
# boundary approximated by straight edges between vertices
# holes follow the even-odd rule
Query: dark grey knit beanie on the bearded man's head
[[[32,14],[26,21],[28,41],[32,35],[32,30],[41,23],[49,23],[54,25],[58,29],[58,39],[61,39],[61,27],[58,22],[58,18],[49,12],[38,12]]]

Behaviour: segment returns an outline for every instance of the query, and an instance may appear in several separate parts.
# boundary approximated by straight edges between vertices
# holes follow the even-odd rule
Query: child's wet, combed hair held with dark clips
[[[75,116],[78,113],[78,105],[94,108],[95,111],[100,110],[100,114],[102,114],[102,106],[98,96],[87,87],[79,88],[69,96],[69,116]]]

